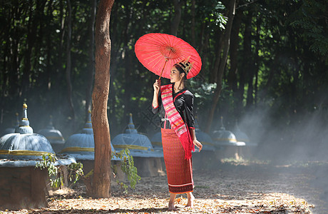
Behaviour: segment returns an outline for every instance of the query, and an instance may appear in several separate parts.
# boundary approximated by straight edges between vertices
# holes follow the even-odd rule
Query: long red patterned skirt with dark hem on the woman
[[[185,150],[173,129],[162,128],[161,132],[168,190],[170,193],[193,192],[191,158],[185,159]]]

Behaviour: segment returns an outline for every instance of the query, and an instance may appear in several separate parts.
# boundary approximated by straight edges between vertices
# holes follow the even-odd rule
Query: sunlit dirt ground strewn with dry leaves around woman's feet
[[[328,213],[324,188],[314,183],[324,165],[224,163],[194,170],[195,205],[185,208],[178,195],[175,212],[168,212],[166,177],[142,178],[128,193],[112,185],[111,198],[89,198],[82,183],[49,195],[48,207],[0,210],[0,213]],[[325,180],[325,178],[324,178]]]

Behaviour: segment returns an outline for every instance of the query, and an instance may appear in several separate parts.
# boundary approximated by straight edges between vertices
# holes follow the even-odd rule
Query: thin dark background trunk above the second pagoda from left
[[[66,82],[67,82],[67,98],[68,105],[71,110],[72,121],[71,124],[74,124],[75,112],[72,98],[72,81],[71,81],[71,37],[72,37],[72,8],[71,0],[67,1],[67,44],[66,44]]]

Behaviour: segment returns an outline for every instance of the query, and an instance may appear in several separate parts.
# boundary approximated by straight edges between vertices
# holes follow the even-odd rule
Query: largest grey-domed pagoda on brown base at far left
[[[55,152],[44,136],[33,133],[24,103],[15,133],[0,138],[0,210],[42,208],[48,204],[48,173],[36,168],[36,163],[49,153]],[[75,159],[68,158],[55,164],[75,162]]]

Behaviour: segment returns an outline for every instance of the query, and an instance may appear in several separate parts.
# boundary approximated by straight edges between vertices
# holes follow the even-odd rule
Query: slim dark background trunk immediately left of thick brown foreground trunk
[[[91,99],[92,99],[92,86],[95,78],[95,56],[94,56],[94,45],[95,45],[95,21],[97,11],[97,0],[93,0],[91,8],[91,19],[89,25],[90,43],[89,43],[89,72],[88,72],[88,83],[86,87],[86,116],[88,116],[88,110],[91,110]]]

